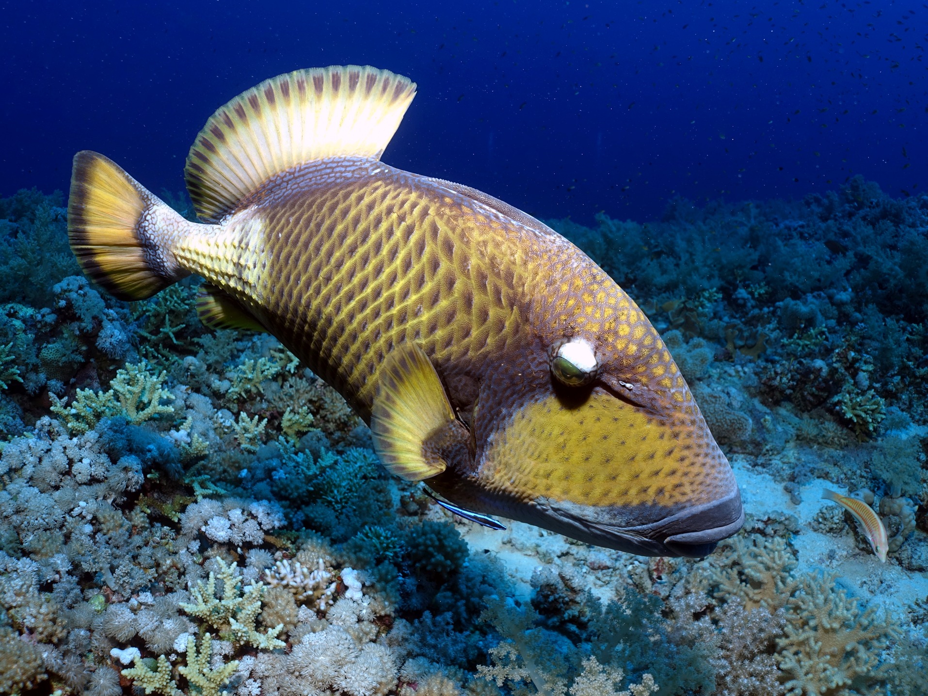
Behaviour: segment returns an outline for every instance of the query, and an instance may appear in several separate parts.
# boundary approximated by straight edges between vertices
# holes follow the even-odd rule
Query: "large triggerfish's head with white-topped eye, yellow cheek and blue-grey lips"
[[[624,329],[549,339],[518,385],[487,380],[480,507],[602,547],[702,557],[741,528],[741,495],[672,356],[628,303]]]

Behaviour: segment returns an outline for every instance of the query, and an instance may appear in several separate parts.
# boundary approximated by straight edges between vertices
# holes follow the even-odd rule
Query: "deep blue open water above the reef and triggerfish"
[[[0,3],[0,195],[96,149],[183,187],[217,107],[297,68],[419,95],[384,160],[538,216],[795,198],[853,174],[928,187],[922,2]]]

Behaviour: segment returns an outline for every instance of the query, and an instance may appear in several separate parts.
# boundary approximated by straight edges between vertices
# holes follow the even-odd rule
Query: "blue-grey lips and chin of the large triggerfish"
[[[630,527],[611,524],[603,515],[591,520],[588,509],[585,514],[578,507],[548,501],[542,506],[548,523],[542,526],[588,544],[640,556],[702,558],[712,553],[722,539],[737,534],[744,524],[737,486],[726,497],[682,509],[657,522]]]

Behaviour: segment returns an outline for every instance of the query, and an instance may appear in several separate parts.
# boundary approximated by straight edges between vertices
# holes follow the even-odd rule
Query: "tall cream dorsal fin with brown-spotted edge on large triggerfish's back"
[[[219,222],[268,179],[327,157],[380,159],[416,84],[370,66],[331,66],[265,80],[220,107],[187,155],[200,220]]]

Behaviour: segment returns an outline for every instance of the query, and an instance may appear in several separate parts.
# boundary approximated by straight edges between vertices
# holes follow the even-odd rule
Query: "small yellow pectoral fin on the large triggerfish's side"
[[[380,461],[407,481],[437,476],[447,462],[428,443],[457,421],[432,361],[405,343],[387,355],[380,375],[370,415]]]

